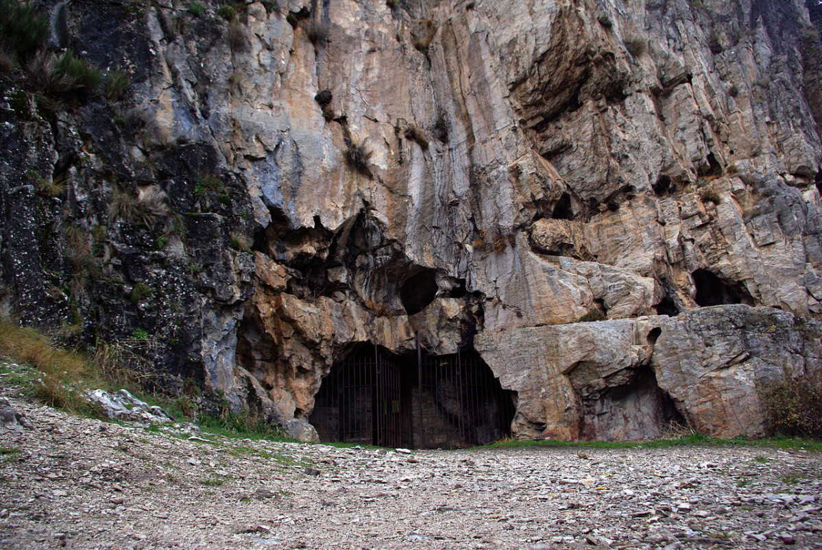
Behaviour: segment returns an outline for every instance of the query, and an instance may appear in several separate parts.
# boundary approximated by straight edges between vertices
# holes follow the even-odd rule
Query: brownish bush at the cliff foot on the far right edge
[[[822,438],[822,373],[786,377],[760,390],[769,436]]]

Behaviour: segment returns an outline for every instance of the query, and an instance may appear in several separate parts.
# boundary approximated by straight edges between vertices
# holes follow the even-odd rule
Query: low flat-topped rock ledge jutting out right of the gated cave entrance
[[[757,391],[786,373],[818,371],[819,334],[815,321],[731,305],[487,333],[478,349],[518,393],[520,437],[639,439],[674,421],[756,436]]]

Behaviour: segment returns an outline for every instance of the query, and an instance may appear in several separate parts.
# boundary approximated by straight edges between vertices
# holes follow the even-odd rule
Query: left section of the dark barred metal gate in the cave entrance
[[[399,365],[377,346],[335,364],[312,421],[323,439],[400,447]],[[322,438],[322,437],[321,437]]]

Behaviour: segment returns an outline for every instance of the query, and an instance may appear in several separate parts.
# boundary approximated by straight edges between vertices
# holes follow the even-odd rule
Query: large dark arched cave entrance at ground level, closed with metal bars
[[[323,442],[455,449],[510,436],[513,392],[476,351],[394,355],[359,346],[331,369],[309,421]]]

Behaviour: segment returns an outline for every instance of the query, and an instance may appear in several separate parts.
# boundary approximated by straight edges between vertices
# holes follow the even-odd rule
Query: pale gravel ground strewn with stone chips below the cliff
[[[815,452],[252,442],[5,393],[0,548],[822,548]]]

